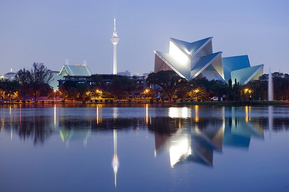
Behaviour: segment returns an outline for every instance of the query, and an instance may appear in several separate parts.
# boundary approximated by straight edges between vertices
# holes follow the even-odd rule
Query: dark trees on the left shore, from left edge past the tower
[[[21,96],[32,96],[34,101],[38,96],[47,96],[53,100],[59,96],[63,100],[77,98],[90,100],[91,98],[127,98],[138,89],[139,85],[125,76],[115,76],[112,81],[104,81],[101,75],[91,75],[92,85],[65,81],[59,87],[59,92],[54,92],[49,83],[53,75],[43,63],[32,64],[31,69],[20,69],[15,80],[0,79],[1,98],[11,101],[20,99]]]

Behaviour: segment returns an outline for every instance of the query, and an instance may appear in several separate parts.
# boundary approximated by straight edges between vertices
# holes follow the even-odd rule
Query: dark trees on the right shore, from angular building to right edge
[[[289,75],[275,72],[272,73],[274,99],[289,99]],[[209,81],[205,77],[200,79],[192,79],[188,81],[179,77],[174,71],[159,71],[151,73],[147,78],[147,85],[151,86],[166,96],[170,101],[173,98],[199,98],[201,100],[210,99],[212,97],[224,97],[228,101],[240,100],[266,100],[268,87],[268,74],[259,77],[258,80],[252,81],[247,85],[239,85],[239,82],[231,79],[228,83],[220,80]]]

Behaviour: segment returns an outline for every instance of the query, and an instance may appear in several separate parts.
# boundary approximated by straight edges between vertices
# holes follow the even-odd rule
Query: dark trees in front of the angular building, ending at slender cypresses
[[[227,97],[228,100],[237,100],[240,88],[237,82],[234,85],[220,80],[209,81],[205,77],[188,81],[179,77],[174,71],[159,71],[147,77],[147,85],[166,96],[170,101],[173,98],[212,98]]]

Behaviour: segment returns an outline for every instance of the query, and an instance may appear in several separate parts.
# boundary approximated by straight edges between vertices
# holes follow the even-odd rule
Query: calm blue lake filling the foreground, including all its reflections
[[[288,109],[0,105],[0,191],[289,191]]]

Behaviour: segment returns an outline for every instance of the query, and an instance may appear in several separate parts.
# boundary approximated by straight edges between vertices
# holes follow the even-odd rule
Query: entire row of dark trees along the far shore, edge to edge
[[[274,99],[289,99],[289,75],[272,73]],[[0,98],[7,101],[21,98],[21,96],[47,96],[52,99],[59,96],[63,100],[81,99],[90,100],[96,98],[126,99],[139,88],[139,85],[125,76],[114,76],[112,81],[105,81],[101,75],[91,75],[92,85],[65,81],[59,87],[57,94],[49,83],[53,75],[43,63],[32,64],[31,69],[20,69],[15,80],[0,79]],[[172,101],[174,98],[210,100],[212,97],[223,97],[228,101],[240,100],[266,100],[268,95],[268,74],[249,82],[247,85],[239,85],[234,79],[228,83],[220,80],[200,79],[187,80],[177,75],[174,71],[159,71],[151,73],[147,77],[147,88],[140,94],[147,98],[154,98],[156,92],[161,97]]]

